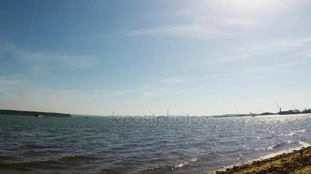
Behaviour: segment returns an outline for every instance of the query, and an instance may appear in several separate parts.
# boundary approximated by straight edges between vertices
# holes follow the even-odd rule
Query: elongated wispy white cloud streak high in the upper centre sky
[[[203,25],[168,25],[154,28],[145,28],[132,31],[128,36],[191,36],[191,37],[214,37],[233,36],[230,33],[207,28]]]

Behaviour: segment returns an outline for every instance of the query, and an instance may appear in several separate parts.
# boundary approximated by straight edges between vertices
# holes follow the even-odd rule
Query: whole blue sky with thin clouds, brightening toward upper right
[[[0,109],[311,108],[311,3],[0,1]]]

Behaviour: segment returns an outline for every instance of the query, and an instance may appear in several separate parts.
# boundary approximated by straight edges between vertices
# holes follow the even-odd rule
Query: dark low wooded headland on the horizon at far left
[[[56,113],[56,112],[37,112],[37,111],[22,111],[22,110],[4,110],[0,109],[0,115],[24,115],[24,116],[35,116],[44,115],[46,117],[71,117],[69,113]]]

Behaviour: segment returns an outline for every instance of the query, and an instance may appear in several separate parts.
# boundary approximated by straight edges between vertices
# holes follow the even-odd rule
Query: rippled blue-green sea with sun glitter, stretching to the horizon
[[[309,146],[310,125],[311,114],[200,119],[0,115],[0,172],[213,172]]]

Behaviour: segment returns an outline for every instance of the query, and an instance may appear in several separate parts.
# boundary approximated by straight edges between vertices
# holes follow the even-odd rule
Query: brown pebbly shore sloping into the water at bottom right
[[[216,171],[216,173],[311,173],[311,147],[262,161],[254,161],[250,164],[235,166],[226,171]]]

